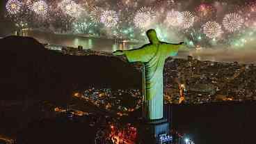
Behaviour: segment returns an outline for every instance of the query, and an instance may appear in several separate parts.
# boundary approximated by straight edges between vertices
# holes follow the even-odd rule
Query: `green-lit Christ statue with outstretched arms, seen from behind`
[[[115,56],[125,55],[129,62],[142,62],[143,70],[143,116],[146,120],[163,118],[163,66],[168,56],[175,56],[180,46],[161,42],[154,29],[147,31],[150,43],[138,49],[114,51]]]

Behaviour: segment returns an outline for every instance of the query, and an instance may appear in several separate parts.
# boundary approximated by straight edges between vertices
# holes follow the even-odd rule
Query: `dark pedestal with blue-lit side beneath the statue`
[[[166,119],[154,121],[142,121],[138,126],[137,138],[140,144],[162,144],[169,136],[169,123]],[[163,138],[165,140],[163,140]],[[170,142],[166,142],[170,143]]]

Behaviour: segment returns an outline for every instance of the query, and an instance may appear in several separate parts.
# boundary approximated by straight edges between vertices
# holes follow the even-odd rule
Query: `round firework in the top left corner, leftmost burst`
[[[6,10],[11,15],[15,15],[20,12],[22,3],[17,0],[9,0],[6,3]]]

